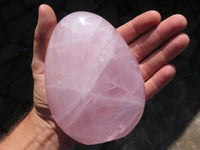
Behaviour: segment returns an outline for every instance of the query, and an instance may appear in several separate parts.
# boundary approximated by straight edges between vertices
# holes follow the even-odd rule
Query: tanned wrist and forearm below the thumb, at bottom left
[[[53,120],[42,118],[35,108],[0,144],[3,150],[69,150],[75,142]]]

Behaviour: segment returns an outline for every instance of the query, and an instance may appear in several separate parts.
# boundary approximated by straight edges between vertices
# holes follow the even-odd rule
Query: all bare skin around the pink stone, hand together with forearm
[[[0,143],[0,149],[66,150],[77,143],[56,125],[47,104],[44,62],[47,45],[56,24],[54,11],[48,5],[41,5],[32,61],[34,106]],[[186,25],[187,20],[182,15],[173,15],[161,21],[158,12],[147,11],[117,29],[139,62],[145,81],[146,100],[173,79],[176,70],[169,61],[189,44],[189,37],[182,33]]]

